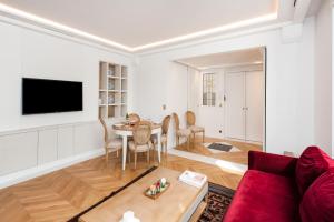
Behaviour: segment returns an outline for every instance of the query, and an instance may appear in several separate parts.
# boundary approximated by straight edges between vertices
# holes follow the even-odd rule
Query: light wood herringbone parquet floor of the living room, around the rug
[[[0,222],[67,221],[124,186],[153,164],[140,157],[137,170],[127,165],[122,172],[119,158],[112,155],[106,165],[101,157],[2,189]],[[165,155],[160,165],[177,171],[188,169],[202,172],[208,175],[210,182],[232,189],[236,189],[242,178],[218,167],[176,155]]]

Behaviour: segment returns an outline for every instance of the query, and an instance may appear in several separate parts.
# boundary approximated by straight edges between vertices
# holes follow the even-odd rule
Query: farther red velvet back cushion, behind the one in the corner
[[[306,148],[296,165],[296,183],[301,195],[305,193],[315,179],[330,168],[331,162],[333,160],[320,148]]]

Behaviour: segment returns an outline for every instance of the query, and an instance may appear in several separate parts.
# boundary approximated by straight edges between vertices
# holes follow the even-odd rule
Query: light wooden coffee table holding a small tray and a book
[[[118,222],[124,212],[134,211],[141,222],[174,222],[189,221],[191,216],[200,214],[208,193],[208,184],[200,189],[178,181],[180,172],[158,168],[129,185],[115,196],[84,214],[80,222]],[[170,188],[158,199],[153,200],[144,195],[144,191],[160,178],[170,182]]]

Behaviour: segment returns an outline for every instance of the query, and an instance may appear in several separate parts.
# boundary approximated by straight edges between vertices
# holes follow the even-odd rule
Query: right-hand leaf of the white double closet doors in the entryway
[[[264,79],[262,71],[245,73],[246,140],[263,141]]]

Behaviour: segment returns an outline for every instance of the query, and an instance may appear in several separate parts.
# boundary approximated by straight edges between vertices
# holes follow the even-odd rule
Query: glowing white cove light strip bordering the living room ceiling
[[[3,3],[0,3],[0,12],[2,12],[3,14],[11,14],[18,19],[33,21],[38,24],[42,24],[42,27],[49,27],[52,30],[72,33],[75,36],[82,37],[85,39],[89,39],[89,40],[100,42],[100,43],[104,43],[109,47],[122,49],[122,50],[126,50],[129,52],[136,52],[139,50],[150,49],[150,48],[155,48],[155,47],[161,47],[161,46],[166,46],[166,44],[170,44],[170,43],[177,43],[177,42],[185,41],[185,40],[191,40],[191,39],[209,36],[209,34],[215,34],[215,33],[219,33],[219,32],[224,32],[224,31],[229,31],[233,29],[243,28],[243,27],[247,27],[247,26],[252,26],[252,24],[258,24],[258,23],[263,23],[263,22],[274,21],[277,19],[277,12],[276,12],[276,13],[271,13],[271,14],[266,14],[266,16],[262,16],[262,17],[257,17],[257,18],[253,18],[253,19],[247,19],[247,20],[243,20],[243,21],[238,21],[238,22],[233,22],[233,23],[225,24],[222,27],[216,27],[213,29],[207,29],[207,30],[203,30],[203,31],[198,31],[198,32],[179,36],[179,37],[166,39],[163,41],[157,41],[157,42],[131,48],[131,47],[111,41],[109,39],[98,37],[98,36],[85,32],[82,30],[58,23],[50,19],[46,19],[46,18],[42,18],[42,17],[39,17],[36,14],[16,9],[16,8],[9,7]]]

